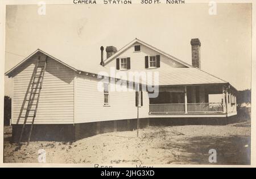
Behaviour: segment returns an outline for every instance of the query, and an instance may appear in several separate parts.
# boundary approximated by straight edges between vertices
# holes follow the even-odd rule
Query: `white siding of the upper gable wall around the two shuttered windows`
[[[140,52],[134,52],[134,45],[141,45],[141,51]],[[131,45],[131,47],[127,48],[126,51],[121,53],[117,58],[122,57],[130,57],[130,70],[132,71],[144,71],[144,70],[150,70],[145,68],[145,56],[151,56],[151,55],[160,55],[158,52],[140,44],[140,43],[134,43],[134,45]],[[114,67],[116,66],[116,60],[113,59],[109,63],[106,64],[107,67]],[[172,60],[166,56],[160,55],[160,68],[183,68],[185,65],[178,63],[175,60]]]

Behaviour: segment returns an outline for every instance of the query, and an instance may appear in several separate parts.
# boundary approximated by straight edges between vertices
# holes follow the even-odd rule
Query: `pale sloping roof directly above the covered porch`
[[[228,82],[199,68],[170,68],[159,71],[159,86],[203,84],[228,84]]]

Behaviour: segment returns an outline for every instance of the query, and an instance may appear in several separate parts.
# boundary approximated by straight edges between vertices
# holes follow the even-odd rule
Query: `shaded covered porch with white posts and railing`
[[[159,86],[150,98],[149,116],[226,117],[237,114],[236,89],[229,84]]]

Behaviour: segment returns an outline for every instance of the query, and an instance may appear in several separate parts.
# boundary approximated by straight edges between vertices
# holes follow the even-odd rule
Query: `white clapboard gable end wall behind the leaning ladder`
[[[37,59],[38,55],[32,56],[27,63],[20,66],[13,77],[12,124],[23,124],[22,116],[26,114],[30,95],[27,90],[30,89],[29,84]],[[35,124],[74,122],[74,77],[75,72],[72,69],[48,58]],[[31,120],[32,118],[28,118],[28,122]]]

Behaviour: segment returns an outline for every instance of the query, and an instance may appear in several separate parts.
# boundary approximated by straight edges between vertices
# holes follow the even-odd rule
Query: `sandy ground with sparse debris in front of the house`
[[[137,131],[125,131],[73,143],[32,141],[18,151],[10,136],[5,127],[5,163],[38,163],[38,150],[45,149],[47,163],[210,164],[209,149],[216,149],[217,164],[250,164],[250,122],[148,127],[139,138]]]

